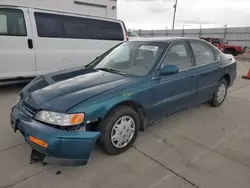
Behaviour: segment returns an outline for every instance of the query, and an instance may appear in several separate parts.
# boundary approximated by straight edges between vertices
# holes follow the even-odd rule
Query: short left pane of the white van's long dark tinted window
[[[61,16],[35,12],[37,34],[39,37],[63,37]]]

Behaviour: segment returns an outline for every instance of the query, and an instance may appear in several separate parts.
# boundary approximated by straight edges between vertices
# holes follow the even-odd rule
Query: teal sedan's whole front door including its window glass
[[[197,80],[191,53],[186,42],[174,43],[160,67],[177,65],[174,75],[155,76],[152,79],[150,119],[178,112],[195,103]]]

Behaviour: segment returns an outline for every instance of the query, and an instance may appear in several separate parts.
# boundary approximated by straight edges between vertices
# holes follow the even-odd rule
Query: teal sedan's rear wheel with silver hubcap
[[[228,82],[225,79],[221,79],[216,87],[216,91],[214,92],[213,98],[210,101],[210,104],[213,107],[218,107],[224,102],[227,96],[227,89]]]

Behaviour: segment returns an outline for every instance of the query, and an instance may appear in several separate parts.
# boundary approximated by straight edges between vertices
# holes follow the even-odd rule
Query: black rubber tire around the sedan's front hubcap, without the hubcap
[[[124,146],[123,148],[117,148],[112,144],[111,141],[111,132],[115,123],[122,117],[129,116],[134,120],[135,131],[131,141]],[[98,143],[100,147],[110,155],[117,155],[128,150],[131,145],[134,143],[138,131],[139,131],[140,119],[138,114],[127,106],[119,106],[112,110],[97,126],[97,130],[101,132]]]

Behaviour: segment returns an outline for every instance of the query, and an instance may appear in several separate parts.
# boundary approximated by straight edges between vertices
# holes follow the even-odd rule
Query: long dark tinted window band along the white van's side
[[[35,13],[39,37],[124,40],[117,22],[74,16]]]

